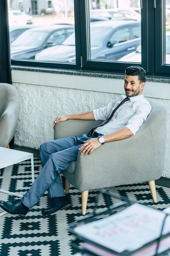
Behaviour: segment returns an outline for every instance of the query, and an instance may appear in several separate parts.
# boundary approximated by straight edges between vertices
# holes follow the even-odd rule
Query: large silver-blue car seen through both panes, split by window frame
[[[96,21],[91,23],[91,59],[113,60],[133,52],[141,43],[141,23],[137,21]],[[62,45],[35,56],[37,61],[75,62],[75,35]]]

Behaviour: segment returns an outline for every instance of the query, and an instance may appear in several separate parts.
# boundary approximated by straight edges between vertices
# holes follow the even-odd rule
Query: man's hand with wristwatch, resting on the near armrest
[[[81,152],[81,154],[84,154],[84,153],[85,153],[85,156],[86,156],[87,154],[91,154],[91,153],[94,151],[94,149],[99,148],[99,146],[102,145],[101,143],[99,143],[98,138],[86,140],[86,141],[84,141],[84,143],[85,143],[85,144],[82,145],[82,146],[79,148],[79,150],[81,150],[82,148],[84,148],[83,151]]]

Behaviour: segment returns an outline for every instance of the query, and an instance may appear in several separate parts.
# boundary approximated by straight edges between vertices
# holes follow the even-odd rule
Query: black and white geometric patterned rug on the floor
[[[34,158],[35,177],[41,170],[39,158]],[[65,178],[61,175],[62,184]],[[1,169],[0,189],[24,195],[31,186],[31,161],[15,164]],[[157,209],[170,206],[170,188],[156,186],[158,203],[153,204],[147,183],[129,186],[112,187],[108,190],[123,195]],[[87,213],[93,212],[98,191],[90,191]],[[1,256],[71,256],[77,252],[69,243],[74,236],[68,232],[68,224],[76,221],[81,215],[81,192],[73,186],[69,198],[71,207],[52,215],[42,215],[41,210],[48,207],[48,195],[42,196],[38,204],[31,209],[25,218],[6,214],[0,216],[0,255]],[[14,196],[0,193],[0,200],[11,200]],[[113,204],[117,199],[112,199]],[[99,198],[99,209],[105,209],[105,199]],[[3,212],[0,209],[0,212]]]

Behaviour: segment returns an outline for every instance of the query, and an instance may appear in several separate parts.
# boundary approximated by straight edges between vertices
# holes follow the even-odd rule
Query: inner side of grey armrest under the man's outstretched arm
[[[101,124],[102,120],[68,120],[59,122],[54,126],[54,140],[78,136],[88,133],[95,125]]]

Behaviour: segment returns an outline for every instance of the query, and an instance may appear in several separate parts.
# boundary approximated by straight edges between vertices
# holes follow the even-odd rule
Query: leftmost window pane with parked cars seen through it
[[[46,3],[47,9],[53,7],[52,1],[48,0]],[[46,3],[44,1],[41,4],[41,17],[25,15],[20,11],[9,11],[10,37],[12,38],[15,34],[14,40],[11,39],[12,60],[29,61],[32,65],[36,65],[36,61],[70,64],[70,58],[75,58],[75,45],[74,47],[62,45],[75,32],[74,0],[70,0],[67,6],[63,5],[62,1],[54,3],[56,14],[45,16]],[[31,10],[33,12],[33,9]],[[12,32],[15,27],[18,32]],[[73,63],[75,62],[72,61]]]

